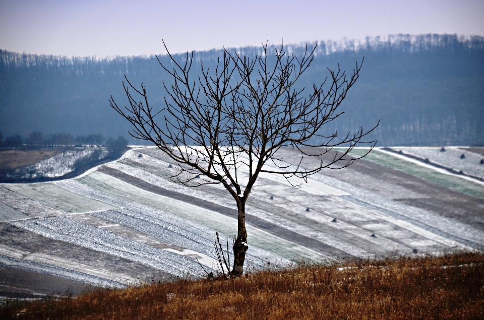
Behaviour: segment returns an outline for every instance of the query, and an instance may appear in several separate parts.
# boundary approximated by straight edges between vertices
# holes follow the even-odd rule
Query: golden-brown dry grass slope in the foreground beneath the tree
[[[482,319],[484,255],[299,266],[4,307],[16,319]]]

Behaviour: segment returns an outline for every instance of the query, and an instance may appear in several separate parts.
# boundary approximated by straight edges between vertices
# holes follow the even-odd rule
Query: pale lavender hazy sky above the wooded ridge
[[[0,49],[139,55],[409,33],[484,36],[484,0],[0,0]]]

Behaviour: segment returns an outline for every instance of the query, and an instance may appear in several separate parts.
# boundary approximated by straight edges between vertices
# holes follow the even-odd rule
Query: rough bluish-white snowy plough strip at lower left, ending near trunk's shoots
[[[69,217],[26,220],[12,224],[51,239],[108,253],[171,275],[184,276],[189,272],[203,272],[196,262],[186,257],[130,240]]]

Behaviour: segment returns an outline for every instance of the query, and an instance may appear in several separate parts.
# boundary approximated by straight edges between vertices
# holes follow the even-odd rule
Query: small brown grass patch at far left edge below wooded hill
[[[18,169],[30,166],[62,152],[62,149],[48,150],[6,150],[0,152],[0,168]]]

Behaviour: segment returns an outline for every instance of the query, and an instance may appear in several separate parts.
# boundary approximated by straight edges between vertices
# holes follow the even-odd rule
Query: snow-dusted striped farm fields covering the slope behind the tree
[[[475,158],[460,149],[406,149],[453,167],[455,152],[469,163]],[[291,150],[281,157],[297,159]],[[484,195],[484,185],[445,180],[432,168],[382,152],[368,159],[296,187],[261,175],[246,207],[247,270],[484,250],[484,200],[472,194]],[[302,165],[319,161],[307,157]],[[199,263],[215,267],[215,232],[223,240],[236,232],[235,203],[219,185],[170,182],[176,173],[170,163],[157,149],[144,148],[74,179],[1,185],[0,266],[95,286],[124,286],[156,274],[203,276]]]

